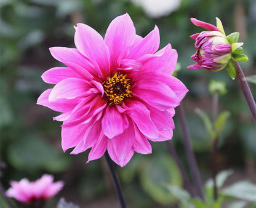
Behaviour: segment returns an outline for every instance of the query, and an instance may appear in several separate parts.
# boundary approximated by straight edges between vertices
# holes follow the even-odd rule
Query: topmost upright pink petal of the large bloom
[[[119,57],[123,57],[127,48],[134,42],[136,31],[128,14],[114,18],[105,34],[105,42],[110,50],[111,67],[116,68]],[[122,58],[121,58],[122,59]]]

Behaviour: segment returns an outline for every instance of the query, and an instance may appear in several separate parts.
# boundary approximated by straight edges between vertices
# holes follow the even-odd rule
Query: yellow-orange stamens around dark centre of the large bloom
[[[125,98],[132,97],[131,79],[126,74],[115,73],[102,83],[109,105],[119,105]]]

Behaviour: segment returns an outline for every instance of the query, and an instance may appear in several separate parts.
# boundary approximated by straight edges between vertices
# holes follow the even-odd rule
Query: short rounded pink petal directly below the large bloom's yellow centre
[[[122,116],[114,106],[108,106],[102,118],[102,130],[108,138],[116,137],[128,126],[126,116]]]

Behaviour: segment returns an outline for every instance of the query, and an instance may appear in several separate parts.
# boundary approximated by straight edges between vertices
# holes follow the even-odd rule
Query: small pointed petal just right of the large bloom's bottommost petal
[[[134,139],[134,151],[140,154],[151,154],[152,148],[148,139],[140,133],[137,126],[134,126],[135,139]]]

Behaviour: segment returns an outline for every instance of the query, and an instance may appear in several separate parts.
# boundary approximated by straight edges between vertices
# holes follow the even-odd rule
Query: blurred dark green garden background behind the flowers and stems
[[[214,25],[215,17],[219,17],[226,34],[240,33],[239,42],[244,42],[244,54],[249,57],[248,62],[241,63],[242,69],[246,76],[255,74],[255,1],[1,0],[0,7],[0,161],[5,164],[1,169],[4,188],[9,188],[10,180],[36,180],[49,173],[55,180],[63,180],[65,187],[47,207],[55,207],[60,196],[81,207],[119,207],[105,159],[86,164],[89,151],[63,153],[61,123],[52,121],[58,113],[36,105],[36,100],[52,87],[42,81],[41,74],[61,65],[51,57],[49,47],[74,47],[76,23],[86,23],[104,36],[111,20],[126,12],[137,34],[145,36],[158,25],[161,48],[170,42],[178,51],[178,78],[190,90],[183,100],[186,122],[203,182],[211,176],[211,143],[194,109],[211,113],[211,79],[226,82],[228,94],[220,97],[219,111],[231,113],[218,143],[218,170],[234,170],[227,183],[244,178],[256,182],[255,124],[238,82],[225,70],[210,73],[186,69],[194,63],[190,57],[196,51],[189,36],[202,31],[190,22],[190,17]],[[249,85],[255,95],[256,85]],[[176,117],[172,143],[191,178]],[[135,153],[125,167],[116,166],[126,201],[129,207],[177,207],[177,199],[162,183],[182,186],[180,173],[164,142],[151,145],[153,154]]]

